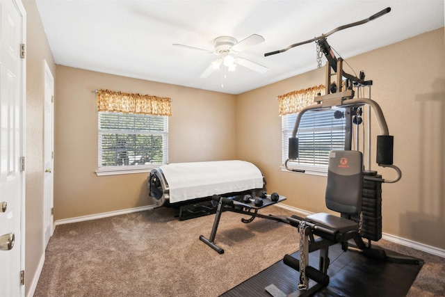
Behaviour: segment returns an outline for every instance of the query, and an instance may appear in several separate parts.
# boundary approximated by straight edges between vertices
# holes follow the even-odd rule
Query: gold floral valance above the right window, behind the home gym
[[[321,93],[325,95],[325,86],[314,86],[304,90],[294,90],[292,92],[277,97],[280,104],[280,115],[288,115],[289,113],[298,113],[306,106],[316,104],[314,97]]]

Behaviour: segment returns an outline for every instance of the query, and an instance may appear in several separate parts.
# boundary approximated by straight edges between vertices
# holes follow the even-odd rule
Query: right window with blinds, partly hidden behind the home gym
[[[289,168],[303,169],[312,174],[325,175],[331,150],[344,150],[344,109],[307,111],[298,127],[298,160],[289,161]],[[335,116],[334,116],[335,114]],[[282,159],[289,156],[289,138],[297,113],[282,115]]]

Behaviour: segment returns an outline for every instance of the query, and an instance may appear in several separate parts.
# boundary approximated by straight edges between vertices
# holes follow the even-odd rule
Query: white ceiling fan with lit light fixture
[[[252,34],[248,38],[238,42],[235,38],[230,36],[220,36],[213,40],[213,50],[200,49],[198,47],[189,47],[188,45],[179,45],[177,43],[173,44],[176,47],[185,47],[186,49],[196,49],[199,51],[205,51],[207,54],[215,54],[219,56],[215,61],[213,61],[209,67],[207,67],[204,72],[200,75],[201,78],[209,77],[209,75],[214,70],[219,70],[223,66],[223,74],[225,75],[225,69],[233,71],[236,65],[241,65],[255,72],[264,73],[268,70],[267,67],[259,65],[252,61],[246,60],[245,58],[240,58],[236,54],[241,53],[245,49],[258,45],[264,42],[264,38],[257,34]]]

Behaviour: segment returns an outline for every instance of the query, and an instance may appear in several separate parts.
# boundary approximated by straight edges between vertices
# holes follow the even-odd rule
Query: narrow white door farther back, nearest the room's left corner
[[[53,234],[54,204],[54,77],[45,61],[44,67],[44,248]]]

